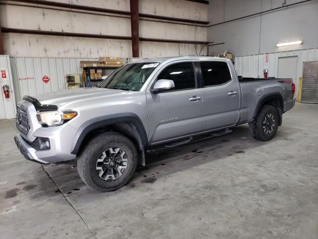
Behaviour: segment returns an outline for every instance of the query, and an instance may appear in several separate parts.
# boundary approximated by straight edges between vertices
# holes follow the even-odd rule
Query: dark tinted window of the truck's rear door
[[[216,86],[231,80],[228,64],[225,62],[209,61],[200,62],[203,76],[203,85]]]

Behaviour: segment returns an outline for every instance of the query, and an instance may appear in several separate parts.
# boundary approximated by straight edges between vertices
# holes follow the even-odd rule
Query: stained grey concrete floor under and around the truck
[[[1,239],[318,239],[318,105],[297,104],[269,142],[242,125],[150,156],[110,193],[25,160],[12,125],[0,121]]]

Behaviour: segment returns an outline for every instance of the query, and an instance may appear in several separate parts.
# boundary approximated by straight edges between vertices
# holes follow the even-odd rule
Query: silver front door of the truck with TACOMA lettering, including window
[[[202,131],[202,88],[197,89],[196,75],[189,61],[170,63],[157,74],[156,81],[172,80],[175,87],[159,94],[146,93],[152,144]]]

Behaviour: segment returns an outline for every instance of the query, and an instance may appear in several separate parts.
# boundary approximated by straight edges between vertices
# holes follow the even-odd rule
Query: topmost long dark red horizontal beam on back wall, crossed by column
[[[77,5],[77,4],[47,1],[47,0],[10,0],[10,1],[39,4],[39,5],[46,5],[46,6],[55,6],[55,7],[62,7],[62,8],[68,8],[68,9],[85,10],[85,11],[112,13],[112,14],[119,14],[119,15],[130,15],[130,11],[113,10],[113,9],[107,9],[107,8],[101,8],[101,7],[83,6],[83,5]],[[159,15],[146,14],[146,13],[139,13],[139,17],[146,17],[146,18],[166,20],[166,21],[175,21],[175,23],[187,22],[187,23],[203,24],[203,25],[209,24],[209,21],[198,21],[198,20],[192,20],[192,19],[159,16]]]

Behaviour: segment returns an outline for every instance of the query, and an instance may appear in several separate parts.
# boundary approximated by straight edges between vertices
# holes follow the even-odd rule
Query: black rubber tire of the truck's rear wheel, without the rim
[[[263,121],[265,120],[265,117],[267,115],[273,115],[273,119],[275,119],[275,125],[273,126],[273,131],[266,134],[263,130]],[[269,141],[271,140],[278,129],[279,124],[279,114],[275,107],[270,105],[264,105],[260,112],[258,113],[258,116],[256,119],[254,119],[253,122],[249,123],[249,128],[251,135],[253,138],[259,141]]]

